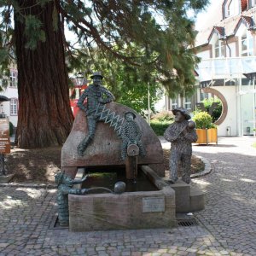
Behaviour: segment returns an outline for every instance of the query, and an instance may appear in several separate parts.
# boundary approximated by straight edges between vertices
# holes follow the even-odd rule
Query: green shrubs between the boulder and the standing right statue
[[[174,117],[171,111],[163,111],[154,114],[150,120],[150,126],[157,136],[163,136],[164,132],[174,121]]]

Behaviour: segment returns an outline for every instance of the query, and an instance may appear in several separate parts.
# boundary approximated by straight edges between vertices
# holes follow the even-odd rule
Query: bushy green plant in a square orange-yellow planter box
[[[192,119],[195,121],[195,131],[198,136],[196,143],[218,143],[217,125],[212,124],[212,117],[209,113],[196,112]]]

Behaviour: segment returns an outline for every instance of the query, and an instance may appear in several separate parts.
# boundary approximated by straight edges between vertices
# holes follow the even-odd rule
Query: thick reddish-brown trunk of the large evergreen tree
[[[20,148],[44,148],[65,142],[73,125],[61,20],[53,17],[59,1],[44,8],[36,0],[19,0],[22,15],[37,15],[43,23],[45,42],[26,48],[25,24],[15,15],[15,46],[18,66],[19,119],[16,140]],[[31,7],[31,8],[29,8]]]

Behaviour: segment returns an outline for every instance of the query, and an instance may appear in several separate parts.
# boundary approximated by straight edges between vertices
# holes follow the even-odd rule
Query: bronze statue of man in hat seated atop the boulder
[[[96,122],[99,121],[99,117],[96,116],[96,109],[100,110],[105,104],[114,100],[113,94],[102,86],[102,73],[95,72],[90,78],[93,80],[93,84],[90,84],[84,90],[77,104],[80,109],[84,110],[88,126],[88,135],[78,146],[78,154],[80,156],[83,156],[85,148],[95,136]],[[85,99],[87,99],[87,102],[84,102]]]

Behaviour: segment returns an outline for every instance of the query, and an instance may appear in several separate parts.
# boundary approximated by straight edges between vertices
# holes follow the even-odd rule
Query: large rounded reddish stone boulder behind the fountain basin
[[[106,107],[111,112],[124,117],[125,112],[132,111],[119,103],[110,102]],[[142,131],[142,142],[146,149],[146,156],[138,157],[139,165],[152,165],[154,171],[160,176],[164,176],[163,150],[160,140],[148,123],[136,113],[136,122]],[[96,125],[95,137],[90,145],[85,149],[84,156],[79,156],[77,147],[88,134],[87,119],[82,110],[77,114],[73,129],[67,137],[61,151],[62,171],[74,177],[79,166],[124,166],[125,161],[121,160],[122,140],[117,136],[113,127],[100,121]]]

